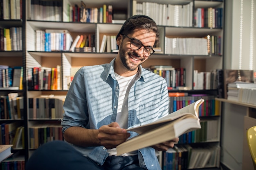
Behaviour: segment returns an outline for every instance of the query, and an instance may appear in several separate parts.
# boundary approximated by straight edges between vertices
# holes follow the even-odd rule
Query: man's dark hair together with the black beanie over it
[[[144,28],[144,29],[147,29],[148,31],[153,31],[156,34],[154,46],[159,43],[159,32],[158,32],[157,24],[152,18],[146,15],[133,15],[129,17],[126,20],[126,22],[124,22],[122,28],[117,34],[117,38],[121,34],[128,35],[130,33],[133,33],[133,31],[136,28]]]

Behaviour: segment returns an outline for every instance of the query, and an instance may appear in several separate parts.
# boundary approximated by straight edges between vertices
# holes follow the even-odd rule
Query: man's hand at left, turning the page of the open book
[[[117,122],[99,128],[98,139],[101,145],[107,149],[115,148],[125,142],[128,137],[130,137],[130,133],[127,133],[126,129],[121,129]]]

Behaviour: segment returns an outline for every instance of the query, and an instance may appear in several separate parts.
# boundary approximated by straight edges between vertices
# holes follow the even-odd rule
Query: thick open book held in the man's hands
[[[203,99],[197,100],[155,122],[127,129],[139,135],[118,145],[117,155],[166,142],[184,133],[200,129],[198,110],[203,102]]]

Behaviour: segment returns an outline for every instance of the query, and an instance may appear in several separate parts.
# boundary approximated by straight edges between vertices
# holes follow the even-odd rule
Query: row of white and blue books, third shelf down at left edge
[[[0,88],[22,89],[23,67],[0,65]]]

